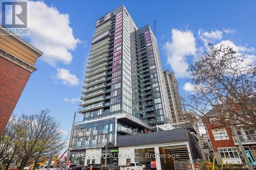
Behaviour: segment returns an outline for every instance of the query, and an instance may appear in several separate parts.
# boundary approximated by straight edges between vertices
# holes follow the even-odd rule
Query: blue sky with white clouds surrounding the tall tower
[[[157,20],[162,66],[177,75],[180,94],[189,93],[187,65],[206,43],[233,46],[255,61],[256,1],[42,1],[31,3],[31,35],[44,52],[36,62],[14,114],[48,107],[69,134],[90,51],[96,19],[122,4],[138,27]],[[77,121],[82,116],[77,116]]]

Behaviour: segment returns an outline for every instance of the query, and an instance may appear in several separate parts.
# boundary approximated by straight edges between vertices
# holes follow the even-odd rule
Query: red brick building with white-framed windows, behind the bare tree
[[[224,163],[241,164],[243,163],[242,154],[238,147],[236,137],[233,135],[229,126],[217,127],[211,124],[211,117],[216,117],[218,109],[212,108],[205,114],[204,125],[214,150],[214,154],[219,165]],[[238,136],[243,144],[245,152],[251,165],[256,164],[256,130],[244,126],[235,127]]]

